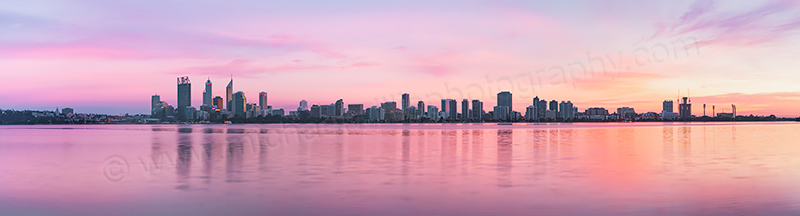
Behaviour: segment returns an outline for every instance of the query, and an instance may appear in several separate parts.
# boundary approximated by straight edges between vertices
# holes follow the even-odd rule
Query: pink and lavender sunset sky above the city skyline
[[[149,113],[176,78],[309,104],[495,105],[514,94],[658,112],[691,92],[740,114],[798,116],[800,2],[0,2],[2,109]],[[697,46],[695,46],[695,44]],[[460,106],[460,105],[459,105]]]

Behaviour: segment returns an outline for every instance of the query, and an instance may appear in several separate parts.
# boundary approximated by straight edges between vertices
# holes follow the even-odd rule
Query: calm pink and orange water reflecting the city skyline
[[[0,215],[798,215],[798,131],[0,126]]]

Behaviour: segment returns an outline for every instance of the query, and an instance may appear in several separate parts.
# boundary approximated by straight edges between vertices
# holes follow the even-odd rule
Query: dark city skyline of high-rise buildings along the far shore
[[[661,113],[636,113],[634,108],[620,107],[611,113],[603,107],[591,107],[579,112],[571,101],[547,101],[538,96],[527,106],[524,115],[514,110],[511,92],[497,93],[496,106],[487,112],[480,100],[442,99],[440,106],[426,105],[418,101],[411,103],[409,94],[402,94],[400,106],[395,101],[387,101],[374,106],[364,104],[345,104],[339,99],[330,104],[313,104],[301,100],[297,109],[289,111],[275,109],[268,104],[267,92],[258,94],[258,103],[248,103],[245,93],[233,90],[233,79],[225,87],[225,97],[212,95],[211,80],[207,80],[203,91],[203,104],[195,108],[191,103],[191,82],[188,77],[178,78],[177,107],[161,101],[159,95],[151,97],[151,117],[161,121],[195,122],[221,121],[227,119],[249,119],[260,117],[285,117],[296,119],[335,119],[357,122],[480,122],[480,121],[636,121],[636,120],[686,120],[692,119],[691,100],[683,97],[674,112],[673,101],[662,104]],[[734,106],[735,112],[735,106]],[[705,116],[705,105],[704,105]],[[734,114],[720,113],[718,117],[733,118]]]

